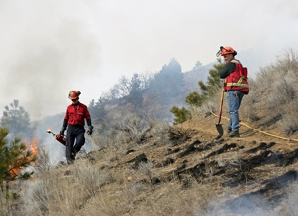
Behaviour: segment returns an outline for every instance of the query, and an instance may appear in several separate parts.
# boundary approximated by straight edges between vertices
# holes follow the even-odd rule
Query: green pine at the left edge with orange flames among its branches
[[[24,168],[29,167],[37,160],[36,156],[26,148],[19,137],[15,137],[10,145],[6,136],[9,130],[0,127],[0,184],[3,187],[3,182],[16,179],[28,179],[33,174],[33,171],[24,171]]]

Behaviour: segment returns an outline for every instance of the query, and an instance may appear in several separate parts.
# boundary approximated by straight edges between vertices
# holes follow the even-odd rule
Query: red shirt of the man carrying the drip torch
[[[79,102],[77,107],[75,105],[69,105],[66,109],[66,114],[64,117],[68,120],[69,125],[85,125],[85,120],[91,118],[86,105]]]

